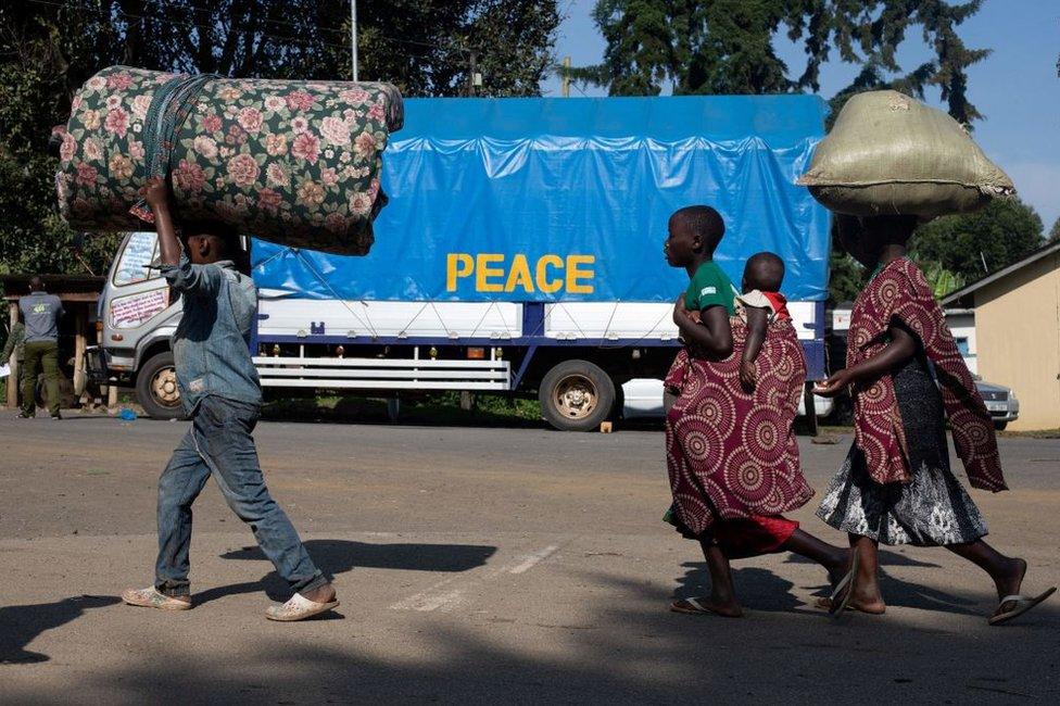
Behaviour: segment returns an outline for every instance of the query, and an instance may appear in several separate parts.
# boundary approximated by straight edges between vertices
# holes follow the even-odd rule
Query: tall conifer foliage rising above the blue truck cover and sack
[[[967,68],[989,51],[964,46],[957,28],[982,0],[598,0],[594,21],[607,47],[604,61],[572,70],[572,78],[606,86],[611,96],[775,93],[820,89],[833,53],[861,67],[841,91],[895,87],[923,98],[936,87],[949,113],[969,124],[982,117],[969,102]],[[905,72],[897,50],[919,30],[934,58]],[[793,71],[777,53],[777,37],[800,46]]]

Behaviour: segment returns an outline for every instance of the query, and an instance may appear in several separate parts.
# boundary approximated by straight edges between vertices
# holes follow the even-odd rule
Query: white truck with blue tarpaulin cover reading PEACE
[[[808,377],[821,378],[829,216],[795,179],[823,117],[813,96],[408,99],[367,256],[245,239],[262,386],[386,398],[395,413],[431,391],[537,395],[553,427],[595,429],[680,345],[671,313],[687,275],[662,244],[668,216],[697,203],[725,220],[715,260],[733,281],[755,252],[784,260]],[[180,302],[157,256],[154,232],[125,237],[89,360],[166,418],[180,414]]]

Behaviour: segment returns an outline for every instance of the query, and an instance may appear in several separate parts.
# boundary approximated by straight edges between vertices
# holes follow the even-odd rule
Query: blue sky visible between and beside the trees
[[[570,56],[575,66],[600,63],[604,39],[592,21],[595,0],[560,0],[565,20],[556,55]],[[1060,1],[986,0],[977,14],[959,27],[964,45],[993,53],[968,71],[969,100],[985,119],[974,125],[974,139],[1015,182],[1020,198],[1042,216],[1046,232],[1060,217]],[[786,39],[778,52],[797,76],[805,66],[802,50]],[[903,67],[929,58],[920,33],[908,33],[899,48]],[[820,94],[828,99],[849,85],[857,67],[833,60],[821,72]],[[559,80],[542,81],[542,93],[559,96]],[[596,87],[571,89],[572,97],[604,96]],[[925,94],[929,104],[945,106],[937,89]]]

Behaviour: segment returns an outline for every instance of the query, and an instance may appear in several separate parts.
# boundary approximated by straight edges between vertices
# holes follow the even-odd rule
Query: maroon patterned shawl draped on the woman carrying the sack
[[[908,259],[888,263],[858,295],[850,313],[846,366],[882,351],[894,319],[920,338],[935,365],[954,445],[972,487],[1006,490],[994,423],[924,274]],[[872,479],[878,483],[908,482],[906,434],[889,374],[854,386],[854,420],[856,441],[865,452]]]

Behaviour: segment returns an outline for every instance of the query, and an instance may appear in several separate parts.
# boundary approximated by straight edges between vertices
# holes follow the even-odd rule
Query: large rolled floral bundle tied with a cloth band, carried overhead
[[[176,212],[287,245],[363,255],[402,126],[389,84],[229,79],[112,66],[74,97],[56,177],[81,230],[142,228],[139,189],[168,175]],[[140,216],[140,217],[138,217]]]

